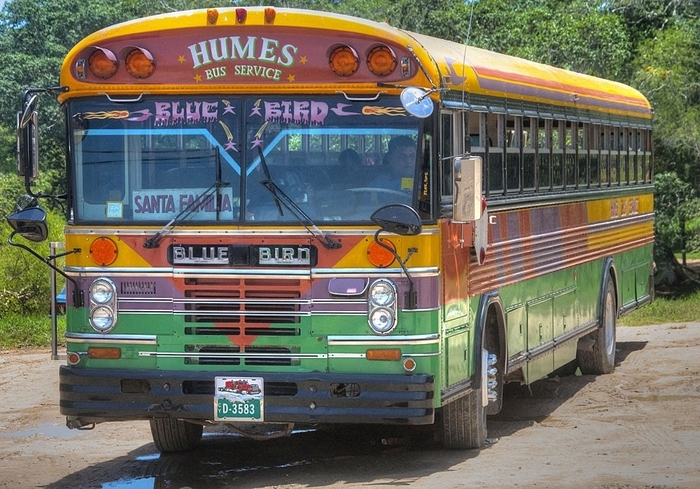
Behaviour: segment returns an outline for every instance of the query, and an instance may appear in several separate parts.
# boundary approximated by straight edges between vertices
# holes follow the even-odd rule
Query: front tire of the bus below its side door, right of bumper
[[[481,361],[481,360],[480,360]],[[484,370],[484,369],[482,369]],[[445,448],[467,450],[479,448],[486,440],[486,409],[481,388],[446,404],[442,408],[442,444]]]

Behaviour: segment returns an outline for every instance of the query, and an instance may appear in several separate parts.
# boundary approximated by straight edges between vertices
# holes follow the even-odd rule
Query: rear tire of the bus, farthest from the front
[[[617,297],[615,284],[609,275],[603,291],[603,304],[600,311],[600,328],[586,336],[593,340],[593,347],[578,350],[576,358],[584,375],[609,374],[615,369],[615,328],[617,325]]]

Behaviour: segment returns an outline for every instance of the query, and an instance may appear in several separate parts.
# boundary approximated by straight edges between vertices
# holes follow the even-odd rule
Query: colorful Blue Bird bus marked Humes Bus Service
[[[67,124],[70,428],[435,424],[615,365],[653,298],[652,112],[619,83],[296,9],[109,27],[36,100]],[[45,237],[34,204],[10,219]],[[575,363],[574,363],[575,362]],[[258,426],[259,427],[259,426]]]

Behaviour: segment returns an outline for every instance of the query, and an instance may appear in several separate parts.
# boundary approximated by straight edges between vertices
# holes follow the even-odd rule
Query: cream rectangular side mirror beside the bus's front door
[[[455,222],[474,222],[483,213],[481,198],[481,158],[455,158],[452,166],[452,218]]]

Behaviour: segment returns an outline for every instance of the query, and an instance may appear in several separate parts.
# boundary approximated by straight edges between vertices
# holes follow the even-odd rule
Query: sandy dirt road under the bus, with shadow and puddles
[[[0,487],[700,487],[700,323],[618,328],[611,375],[508,389],[479,451],[375,430],[205,435],[160,456],[148,424],[64,428],[48,351],[0,352]]]

